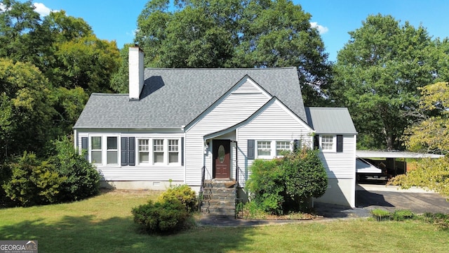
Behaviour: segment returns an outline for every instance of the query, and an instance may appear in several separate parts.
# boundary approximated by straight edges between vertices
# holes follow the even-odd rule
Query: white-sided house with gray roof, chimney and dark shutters
[[[129,94],[93,93],[75,145],[115,188],[165,189],[234,181],[255,159],[314,145],[328,172],[316,202],[355,207],[356,129],[346,108],[304,108],[295,67],[159,69],[129,51]]]

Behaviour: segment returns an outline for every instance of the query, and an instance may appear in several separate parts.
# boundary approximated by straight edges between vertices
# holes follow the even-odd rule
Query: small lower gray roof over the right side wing
[[[316,134],[357,134],[347,108],[305,108]]]

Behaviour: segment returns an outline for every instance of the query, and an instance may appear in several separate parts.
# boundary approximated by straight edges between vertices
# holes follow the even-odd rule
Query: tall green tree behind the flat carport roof
[[[359,148],[400,149],[418,87],[448,78],[448,53],[424,27],[369,15],[338,53],[331,98],[349,108]]]

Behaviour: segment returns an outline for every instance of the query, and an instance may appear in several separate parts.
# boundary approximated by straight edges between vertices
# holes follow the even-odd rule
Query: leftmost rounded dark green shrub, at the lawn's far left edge
[[[11,179],[4,183],[6,196],[22,206],[58,202],[60,186],[67,178],[60,176],[48,162],[39,162],[26,152],[18,162],[11,163]]]

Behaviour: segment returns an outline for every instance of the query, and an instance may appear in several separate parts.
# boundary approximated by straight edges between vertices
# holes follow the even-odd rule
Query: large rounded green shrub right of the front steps
[[[328,186],[317,151],[308,148],[274,160],[255,160],[250,170],[251,200],[272,214],[304,211],[311,197],[321,197]]]

